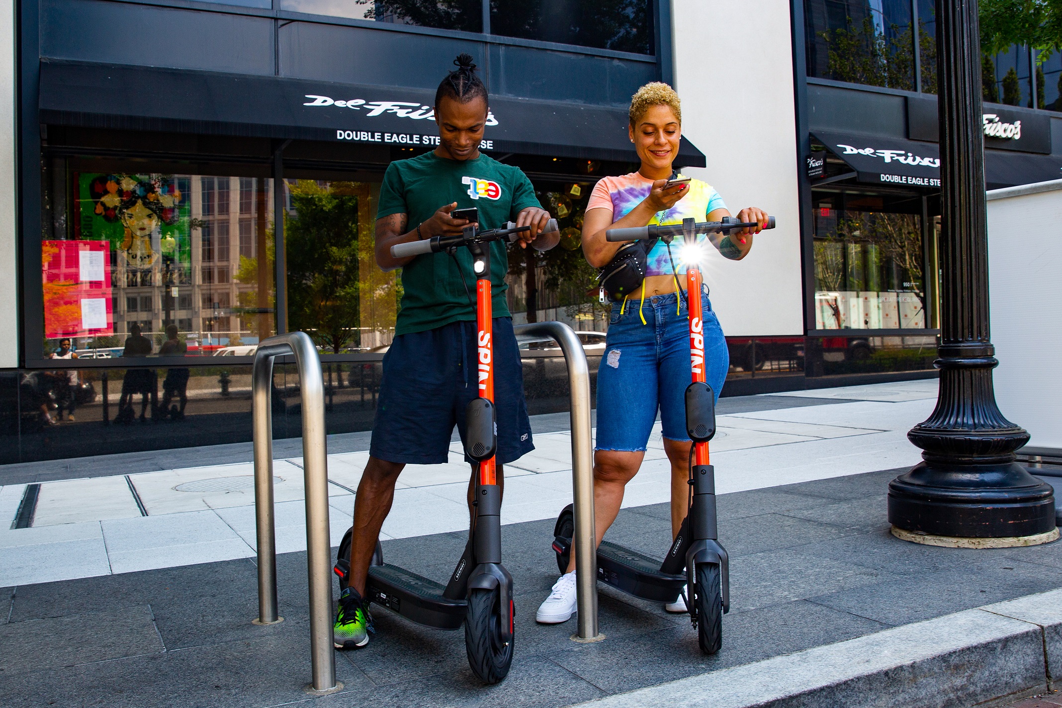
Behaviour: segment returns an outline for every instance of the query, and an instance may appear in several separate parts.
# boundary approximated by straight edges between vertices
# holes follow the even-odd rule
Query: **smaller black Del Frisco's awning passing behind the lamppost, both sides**
[[[936,143],[829,131],[812,131],[811,135],[844,160],[857,173],[858,182],[940,189],[940,151]],[[1059,178],[1062,155],[984,151],[986,189]]]

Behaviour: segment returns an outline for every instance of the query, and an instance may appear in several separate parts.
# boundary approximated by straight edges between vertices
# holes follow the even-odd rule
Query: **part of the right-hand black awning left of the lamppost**
[[[931,142],[828,131],[811,135],[844,160],[859,182],[940,189],[940,152]]]

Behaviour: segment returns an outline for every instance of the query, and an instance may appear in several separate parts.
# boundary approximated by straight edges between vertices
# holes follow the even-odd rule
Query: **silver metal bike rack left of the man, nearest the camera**
[[[313,693],[342,688],[336,681],[331,621],[331,543],[328,524],[328,456],[325,449],[324,377],[321,357],[306,332],[263,340],[252,369],[255,452],[255,519],[258,528],[258,619],[284,621],[276,603],[276,532],[273,508],[273,361],[295,356],[303,401],[303,467],[306,491],[306,566],[310,586],[310,660]]]

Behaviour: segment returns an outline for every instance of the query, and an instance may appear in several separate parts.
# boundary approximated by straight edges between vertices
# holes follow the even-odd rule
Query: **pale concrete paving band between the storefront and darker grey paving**
[[[919,450],[907,441],[907,430],[929,415],[936,395],[937,382],[924,380],[721,399],[719,432],[712,442],[717,488],[726,494],[913,465]],[[536,449],[506,466],[503,523],[551,518],[571,501],[567,414],[542,418],[534,421]],[[367,436],[337,437],[329,442],[333,453],[328,460],[333,543],[350,525],[354,490],[369,457]],[[186,462],[167,469],[145,465],[142,453],[0,467],[5,480],[0,487],[0,586],[253,556],[250,447],[222,447],[222,453],[205,448],[168,452],[169,463]],[[281,553],[306,548],[302,457],[291,455],[290,446],[285,449],[290,456],[276,460],[273,470]],[[455,443],[445,465],[407,466],[383,538],[467,528],[468,467],[460,450]],[[224,463],[203,464],[218,457]],[[56,479],[59,469],[81,476]],[[93,474],[84,476],[89,470]],[[41,478],[47,481],[29,487],[27,482]],[[667,501],[669,479],[657,424],[624,506]],[[31,491],[35,502],[27,501]],[[19,512],[28,528],[11,528],[19,525],[13,523]],[[54,564],[54,557],[70,560]]]

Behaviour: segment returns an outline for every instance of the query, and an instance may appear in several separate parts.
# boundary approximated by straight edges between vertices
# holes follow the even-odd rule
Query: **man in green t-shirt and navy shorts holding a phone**
[[[498,228],[507,221],[531,226],[520,236],[523,247],[549,221],[527,175],[480,154],[490,114],[486,88],[476,75],[470,56],[462,54],[455,64],[457,71],[451,71],[435,92],[439,146],[392,162],[380,187],[376,262],[384,271],[402,269],[404,292],[395,339],[383,357],[369,464],[355,497],[350,570],[332,629],[338,649],[369,642],[365,580],[399,472],[407,464],[447,462],[453,426],[464,441],[465,407],[479,395],[472,255],[467,248],[459,248],[452,255],[394,258],[391,246],[461,234],[468,222],[450,217],[458,208],[477,207],[483,229]],[[506,304],[506,246],[495,241],[490,248],[498,436],[495,459],[501,485],[502,464],[517,460],[534,446],[524,402],[519,349]],[[475,478],[468,487],[469,508],[474,485]]]

